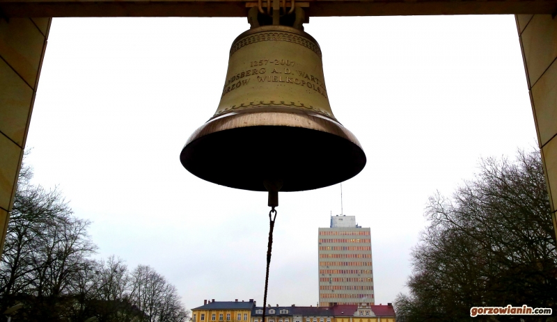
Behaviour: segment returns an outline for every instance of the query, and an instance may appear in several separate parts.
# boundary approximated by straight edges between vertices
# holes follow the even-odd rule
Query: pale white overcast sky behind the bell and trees
[[[204,182],[178,156],[219,103],[245,18],[56,18],[27,147],[35,182],[93,221],[99,257],[148,264],[189,309],[262,305],[267,195]],[[311,18],[333,111],[368,164],[344,214],[371,227],[376,303],[405,291],[409,253],[436,190],[482,156],[536,145],[513,16]],[[233,165],[230,165],[233,167]],[[317,227],[340,188],[281,193],[268,302],[317,303]]]

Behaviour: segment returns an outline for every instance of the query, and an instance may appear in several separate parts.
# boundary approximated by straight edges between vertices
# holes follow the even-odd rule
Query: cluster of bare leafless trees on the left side
[[[32,177],[24,165],[0,263],[0,312],[21,302],[13,321],[185,320],[175,287],[152,268],[130,273],[120,258],[91,259],[97,246],[89,221],[74,216],[57,189],[33,186]]]

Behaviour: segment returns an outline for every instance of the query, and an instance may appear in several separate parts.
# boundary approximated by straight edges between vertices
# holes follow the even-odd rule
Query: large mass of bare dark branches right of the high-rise
[[[469,321],[472,306],[557,309],[557,251],[539,152],[514,162],[484,159],[453,198],[434,195],[430,221],[412,252],[405,321]],[[506,316],[499,321],[544,321]]]

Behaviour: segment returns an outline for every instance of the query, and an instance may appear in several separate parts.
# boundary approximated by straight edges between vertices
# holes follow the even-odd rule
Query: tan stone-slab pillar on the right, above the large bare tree
[[[557,18],[551,15],[515,17],[557,235]]]

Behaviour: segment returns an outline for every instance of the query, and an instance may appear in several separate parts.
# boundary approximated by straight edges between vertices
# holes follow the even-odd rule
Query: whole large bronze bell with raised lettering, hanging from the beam
[[[304,191],[354,177],[366,154],[331,111],[315,39],[271,25],[234,40],[217,112],[191,134],[180,161],[223,186]]]

